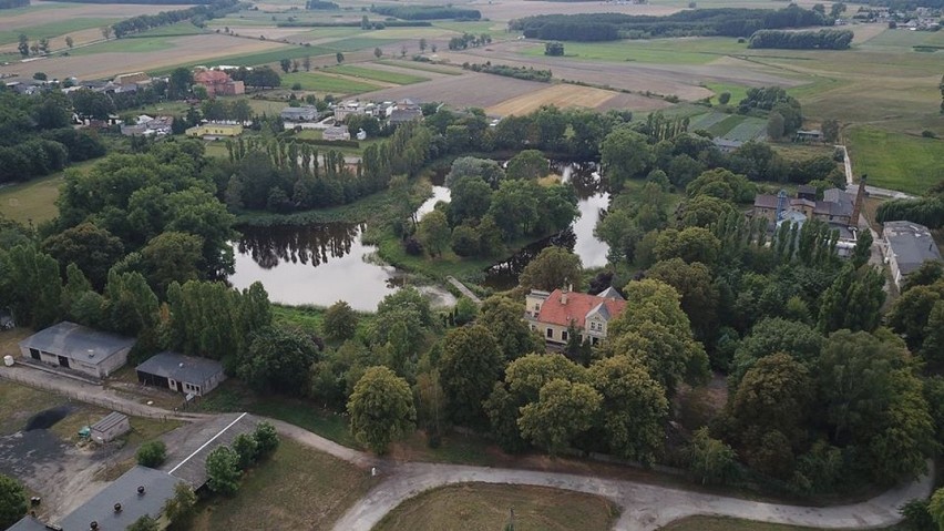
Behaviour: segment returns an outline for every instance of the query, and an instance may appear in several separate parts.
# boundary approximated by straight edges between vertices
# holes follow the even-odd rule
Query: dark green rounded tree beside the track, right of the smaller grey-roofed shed
[[[317,359],[318,346],[310,336],[268,327],[240,353],[237,374],[258,391],[302,396],[308,390],[308,369]]]

